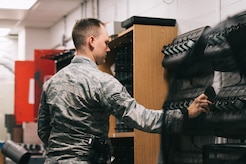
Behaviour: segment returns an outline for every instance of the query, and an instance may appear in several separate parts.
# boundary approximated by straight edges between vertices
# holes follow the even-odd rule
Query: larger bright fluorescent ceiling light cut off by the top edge
[[[30,9],[37,0],[0,0],[0,9]]]

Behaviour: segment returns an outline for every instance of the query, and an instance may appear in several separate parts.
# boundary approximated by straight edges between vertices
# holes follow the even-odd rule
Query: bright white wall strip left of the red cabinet
[[[5,114],[14,113],[14,61],[17,59],[15,37],[0,37],[0,140],[5,140]]]

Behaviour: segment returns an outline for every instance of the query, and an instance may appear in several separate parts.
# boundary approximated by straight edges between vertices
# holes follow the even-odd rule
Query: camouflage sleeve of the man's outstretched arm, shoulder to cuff
[[[107,81],[103,88],[107,107],[112,110],[111,114],[128,126],[149,133],[161,133],[162,126],[169,132],[182,130],[184,114],[181,110],[147,109],[131,97],[117,79]]]

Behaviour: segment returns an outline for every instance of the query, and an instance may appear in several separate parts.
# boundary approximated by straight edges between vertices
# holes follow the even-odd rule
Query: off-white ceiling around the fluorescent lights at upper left
[[[49,28],[63,19],[84,0],[38,0],[29,10],[0,9],[0,28],[11,28],[18,35],[23,27]]]

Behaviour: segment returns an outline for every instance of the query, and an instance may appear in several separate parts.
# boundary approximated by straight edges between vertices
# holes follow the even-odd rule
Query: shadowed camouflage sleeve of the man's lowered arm
[[[46,103],[45,92],[43,91],[40,99],[38,114],[38,136],[46,146],[48,144],[50,130],[50,112],[48,104]]]

